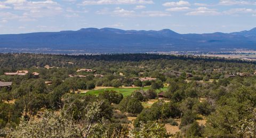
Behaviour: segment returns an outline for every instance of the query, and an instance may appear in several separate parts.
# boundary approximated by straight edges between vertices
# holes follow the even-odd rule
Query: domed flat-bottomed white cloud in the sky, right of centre
[[[198,7],[192,12],[187,13],[186,15],[219,15],[221,14],[216,9],[209,9],[207,7]]]

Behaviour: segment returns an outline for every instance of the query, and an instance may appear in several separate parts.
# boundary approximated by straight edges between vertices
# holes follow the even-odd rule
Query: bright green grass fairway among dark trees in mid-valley
[[[142,87],[142,89],[144,91],[148,90],[150,87]],[[131,95],[132,92],[134,92],[135,90],[140,90],[141,88],[105,88],[105,89],[100,89],[100,90],[91,90],[91,91],[88,91],[86,93],[83,93],[83,94],[93,94],[93,95],[99,95],[99,93],[102,93],[106,90],[108,91],[117,91],[118,93],[122,93],[124,96],[128,96],[128,95]],[[161,91],[166,91],[167,90],[167,87],[164,87],[161,89]],[[156,91],[157,93],[160,92],[159,90]]]

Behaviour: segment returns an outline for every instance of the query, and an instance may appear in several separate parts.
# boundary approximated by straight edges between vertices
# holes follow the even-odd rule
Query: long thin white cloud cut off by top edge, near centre
[[[81,5],[107,5],[107,4],[154,4],[151,0],[92,0],[83,1]]]

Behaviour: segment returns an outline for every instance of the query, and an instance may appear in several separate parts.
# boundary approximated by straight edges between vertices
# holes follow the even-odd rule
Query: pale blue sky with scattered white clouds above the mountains
[[[0,0],[0,34],[89,27],[181,34],[250,30],[256,27],[256,1]]]

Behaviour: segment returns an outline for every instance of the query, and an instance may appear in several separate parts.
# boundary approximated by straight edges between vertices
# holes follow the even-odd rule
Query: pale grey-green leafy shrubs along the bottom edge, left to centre
[[[68,110],[59,113],[46,111],[40,119],[22,119],[19,126],[9,129],[7,137],[168,137],[163,124],[141,124],[131,129],[123,124],[109,124],[101,118],[101,104],[93,102],[84,109],[83,119],[76,121],[67,116]]]

